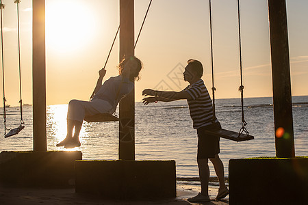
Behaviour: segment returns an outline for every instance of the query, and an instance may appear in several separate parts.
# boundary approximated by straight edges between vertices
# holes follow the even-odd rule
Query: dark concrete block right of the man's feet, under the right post
[[[229,161],[229,203],[307,204],[308,157]]]

